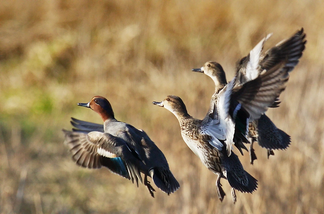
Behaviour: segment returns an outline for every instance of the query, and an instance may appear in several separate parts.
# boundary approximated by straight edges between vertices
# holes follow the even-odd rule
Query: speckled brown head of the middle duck
[[[172,112],[178,119],[190,117],[182,99],[177,96],[169,95],[161,102],[152,102],[154,105],[164,107]]]

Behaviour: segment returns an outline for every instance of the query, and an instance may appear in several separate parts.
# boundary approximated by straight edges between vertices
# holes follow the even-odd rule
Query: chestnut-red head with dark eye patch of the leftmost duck
[[[90,102],[78,103],[78,106],[91,108],[101,116],[103,121],[106,121],[107,119],[115,119],[110,102],[105,97],[95,96]]]

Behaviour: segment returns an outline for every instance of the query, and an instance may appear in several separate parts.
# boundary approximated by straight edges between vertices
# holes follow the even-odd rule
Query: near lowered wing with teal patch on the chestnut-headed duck
[[[121,138],[108,133],[92,131],[82,132],[63,130],[64,143],[68,145],[76,164],[86,168],[110,169],[124,178],[142,183],[140,168],[144,164],[134,156],[131,148]]]

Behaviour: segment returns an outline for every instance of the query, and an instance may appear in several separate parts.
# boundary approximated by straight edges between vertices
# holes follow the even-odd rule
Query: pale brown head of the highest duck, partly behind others
[[[214,61],[206,62],[203,67],[191,69],[194,72],[201,72],[213,79],[216,88],[224,87],[227,84],[223,67]]]

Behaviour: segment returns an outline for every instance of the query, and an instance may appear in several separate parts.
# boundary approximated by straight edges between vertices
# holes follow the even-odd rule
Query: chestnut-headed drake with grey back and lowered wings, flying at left
[[[116,120],[106,98],[96,96],[89,103],[78,105],[91,108],[104,121],[102,126],[73,118],[73,131],[64,130],[65,143],[78,165],[87,168],[107,167],[124,178],[135,180],[137,185],[138,180],[142,183],[142,172],[144,184],[152,197],[155,190],[147,176],[168,194],[179,189],[180,185],[161,150],[144,131]]]

